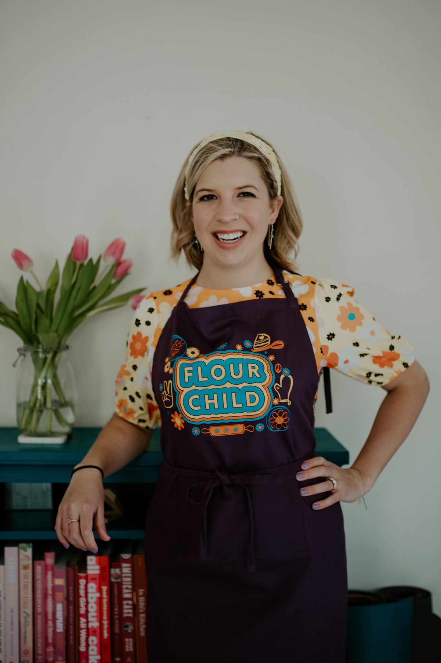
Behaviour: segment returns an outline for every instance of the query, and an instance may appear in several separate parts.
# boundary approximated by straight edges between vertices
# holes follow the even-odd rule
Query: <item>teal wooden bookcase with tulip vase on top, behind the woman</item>
[[[54,511],[6,511],[0,503],[0,540],[55,539],[58,504],[70,482],[70,473],[96,440],[101,428],[74,428],[72,439],[60,445],[19,444],[18,428],[0,428],[0,485],[52,483]],[[349,452],[326,428],[316,428],[317,455],[336,465],[349,463]],[[164,461],[160,429],[155,429],[149,449],[123,469],[105,477],[125,508],[123,518],[109,523],[111,538],[144,538],[144,520]],[[3,486],[2,495],[4,493]]]

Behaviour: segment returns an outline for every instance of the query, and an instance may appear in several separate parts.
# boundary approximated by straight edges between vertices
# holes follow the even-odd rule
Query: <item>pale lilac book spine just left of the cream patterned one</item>
[[[19,548],[5,546],[5,622],[7,663],[19,663]]]

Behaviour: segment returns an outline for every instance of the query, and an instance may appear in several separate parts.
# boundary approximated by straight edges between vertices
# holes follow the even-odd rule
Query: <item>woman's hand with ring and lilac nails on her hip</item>
[[[322,456],[307,459],[295,476],[299,482],[324,477],[320,483],[301,488],[300,493],[303,496],[332,491],[326,499],[313,503],[313,509],[325,509],[336,502],[355,502],[366,493],[368,488],[366,478],[362,476],[359,469],[355,467],[343,469]],[[337,487],[334,488],[332,481],[325,477],[335,479]]]

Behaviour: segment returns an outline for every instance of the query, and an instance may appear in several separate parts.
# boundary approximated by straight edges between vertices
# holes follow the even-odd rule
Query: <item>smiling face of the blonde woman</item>
[[[260,261],[283,202],[270,201],[258,165],[242,156],[213,161],[195,186],[191,216],[204,250],[204,265],[240,265]],[[187,203],[189,207],[190,204]]]

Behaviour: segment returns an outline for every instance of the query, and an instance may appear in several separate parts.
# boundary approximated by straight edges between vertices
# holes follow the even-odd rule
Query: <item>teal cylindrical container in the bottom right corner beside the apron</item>
[[[380,603],[378,593],[350,591],[346,663],[411,663],[412,625],[413,597]]]

